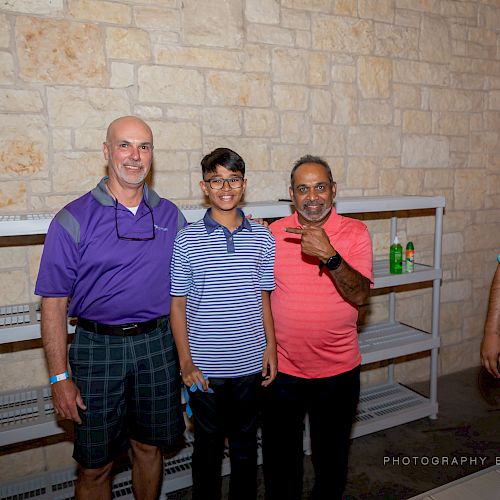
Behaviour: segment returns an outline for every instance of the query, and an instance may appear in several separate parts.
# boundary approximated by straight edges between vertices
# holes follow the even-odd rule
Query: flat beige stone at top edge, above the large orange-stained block
[[[111,24],[130,24],[132,9],[102,0],[68,0],[68,13],[75,19]]]

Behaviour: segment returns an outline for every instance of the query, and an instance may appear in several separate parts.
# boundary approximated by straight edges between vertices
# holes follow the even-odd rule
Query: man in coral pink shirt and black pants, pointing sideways
[[[336,183],[321,158],[291,173],[296,212],[273,224],[271,295],[278,376],[264,409],[266,498],[302,498],[303,421],[309,414],[315,484],[311,498],[342,498],[359,399],[358,306],[368,297],[372,247],[366,226],[338,215]]]

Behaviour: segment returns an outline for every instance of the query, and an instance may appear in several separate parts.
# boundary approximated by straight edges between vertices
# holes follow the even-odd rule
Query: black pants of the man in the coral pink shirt
[[[328,378],[278,373],[265,391],[262,446],[266,499],[300,500],[303,422],[309,413],[315,483],[311,498],[342,498],[350,433],[359,400],[359,366]]]

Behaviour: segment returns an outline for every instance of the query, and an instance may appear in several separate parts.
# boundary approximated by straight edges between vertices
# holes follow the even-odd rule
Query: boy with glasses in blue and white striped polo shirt
[[[193,499],[220,498],[225,437],[229,498],[255,499],[259,395],[277,372],[274,238],[238,208],[246,179],[237,153],[218,148],[201,166],[211,207],[175,240],[170,316],[194,417]]]

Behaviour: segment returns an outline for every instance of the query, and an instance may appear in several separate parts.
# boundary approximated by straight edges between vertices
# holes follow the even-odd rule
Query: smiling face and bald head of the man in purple
[[[139,118],[119,118],[108,128],[103,152],[112,185],[142,186],[153,161],[151,129]]]

